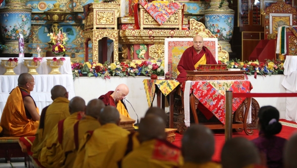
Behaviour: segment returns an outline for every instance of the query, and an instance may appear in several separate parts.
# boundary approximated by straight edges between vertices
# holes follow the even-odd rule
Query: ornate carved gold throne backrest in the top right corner
[[[265,9],[265,39],[276,39],[277,29],[280,26],[296,26],[296,8],[279,0]]]

